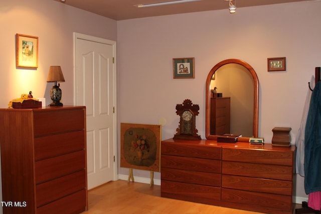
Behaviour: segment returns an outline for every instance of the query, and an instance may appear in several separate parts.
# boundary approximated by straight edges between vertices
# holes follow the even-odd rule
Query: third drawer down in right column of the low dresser
[[[242,189],[273,194],[292,195],[292,182],[235,175],[222,175],[222,188]]]

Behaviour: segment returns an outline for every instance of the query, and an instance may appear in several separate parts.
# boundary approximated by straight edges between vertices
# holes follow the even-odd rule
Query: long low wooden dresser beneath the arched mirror
[[[162,197],[292,213],[294,145],[168,139],[161,150]]]

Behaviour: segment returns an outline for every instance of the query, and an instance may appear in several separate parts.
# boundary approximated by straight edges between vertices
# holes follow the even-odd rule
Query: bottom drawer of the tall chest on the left
[[[37,214],[80,213],[86,209],[86,190],[75,192],[37,208]]]

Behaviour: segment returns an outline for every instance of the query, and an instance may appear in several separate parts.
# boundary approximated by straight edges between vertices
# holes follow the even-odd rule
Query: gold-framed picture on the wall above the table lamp
[[[38,37],[16,35],[16,66],[38,68]]]

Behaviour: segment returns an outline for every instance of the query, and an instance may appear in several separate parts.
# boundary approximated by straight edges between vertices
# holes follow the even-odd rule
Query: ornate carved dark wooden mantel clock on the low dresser
[[[176,129],[174,139],[200,140],[197,134],[196,115],[199,114],[199,105],[194,105],[191,100],[184,100],[183,104],[176,105],[176,114],[180,115],[179,127]]]

